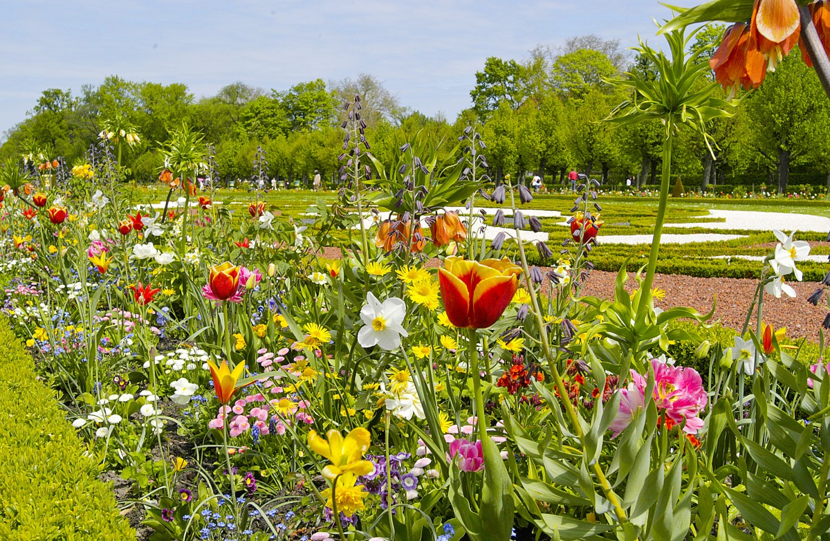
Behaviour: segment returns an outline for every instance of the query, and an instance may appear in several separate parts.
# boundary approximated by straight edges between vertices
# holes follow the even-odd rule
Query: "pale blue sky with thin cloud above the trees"
[[[488,56],[518,60],[588,33],[653,42],[652,17],[668,15],[657,0],[3,0],[0,134],[41,90],[77,94],[114,74],[185,83],[199,98],[237,80],[284,90],[365,72],[402,105],[452,120]]]

